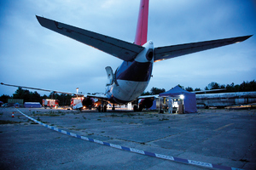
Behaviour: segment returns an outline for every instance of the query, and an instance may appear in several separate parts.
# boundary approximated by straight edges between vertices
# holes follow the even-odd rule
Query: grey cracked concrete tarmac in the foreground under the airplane
[[[90,139],[256,169],[256,110],[159,114],[18,109],[39,122]],[[206,169],[73,138],[32,122],[15,108],[0,109],[0,122],[0,169]]]

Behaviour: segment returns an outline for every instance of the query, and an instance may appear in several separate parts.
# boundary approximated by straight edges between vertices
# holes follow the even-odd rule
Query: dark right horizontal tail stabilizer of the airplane
[[[184,43],[179,45],[172,45],[160,48],[154,48],[154,62],[164,60],[164,59],[171,59],[174,57],[178,57],[185,54],[192,54],[195,52],[211,49],[211,48],[218,48],[225,45],[230,45],[236,42],[245,41],[247,38],[251,36],[244,36],[244,37],[231,37],[225,39],[218,39],[206,42],[192,42],[192,43]]]

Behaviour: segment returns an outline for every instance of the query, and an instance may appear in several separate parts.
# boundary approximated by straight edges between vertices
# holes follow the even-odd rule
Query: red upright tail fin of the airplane
[[[135,36],[135,44],[143,46],[147,42],[148,36],[148,1],[141,0],[138,19],[137,30]]]

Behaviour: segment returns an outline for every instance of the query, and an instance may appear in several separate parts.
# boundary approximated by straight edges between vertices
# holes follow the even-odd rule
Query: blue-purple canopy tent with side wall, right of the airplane
[[[172,88],[171,90],[159,94],[160,97],[178,97],[179,95],[183,94],[183,104],[184,104],[184,113],[195,113],[197,112],[196,109],[196,99],[195,94],[183,90],[183,88],[179,88],[178,86]]]

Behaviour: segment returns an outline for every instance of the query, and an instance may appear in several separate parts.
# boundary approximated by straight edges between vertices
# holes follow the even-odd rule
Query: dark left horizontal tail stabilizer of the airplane
[[[37,16],[41,26],[49,30],[56,31],[64,36],[71,37],[79,42],[85,43],[91,47],[102,50],[119,59],[130,61],[137,54],[143,51],[143,47],[131,42],[125,42],[113,37],[104,36],[93,31],[83,30],[75,26],[68,26],[55,20],[49,20]]]

